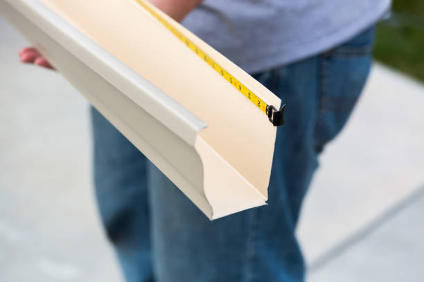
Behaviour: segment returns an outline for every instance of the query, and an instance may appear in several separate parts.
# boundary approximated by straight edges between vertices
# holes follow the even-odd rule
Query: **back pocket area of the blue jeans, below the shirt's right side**
[[[371,68],[374,28],[319,56],[315,150],[335,138],[353,110]]]

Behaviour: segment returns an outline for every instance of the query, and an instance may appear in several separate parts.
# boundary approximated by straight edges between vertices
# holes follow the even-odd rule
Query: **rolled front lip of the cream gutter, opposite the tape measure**
[[[19,10],[35,26],[45,30],[49,37],[65,50],[85,62],[89,68],[121,90],[130,100],[188,144],[194,145],[197,133],[207,127],[206,122],[197,115],[71,26],[41,2],[34,0],[0,1],[6,1]]]

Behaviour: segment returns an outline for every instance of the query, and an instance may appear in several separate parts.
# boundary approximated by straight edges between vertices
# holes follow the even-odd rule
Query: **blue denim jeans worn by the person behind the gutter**
[[[325,144],[342,129],[371,65],[373,28],[326,53],[253,76],[288,105],[268,204],[209,221],[92,109],[100,215],[127,281],[303,281],[294,231]]]

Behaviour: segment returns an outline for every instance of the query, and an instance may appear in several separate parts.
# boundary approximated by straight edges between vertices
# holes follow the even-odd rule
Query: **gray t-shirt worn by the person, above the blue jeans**
[[[248,73],[337,46],[391,0],[205,0],[182,24]]]

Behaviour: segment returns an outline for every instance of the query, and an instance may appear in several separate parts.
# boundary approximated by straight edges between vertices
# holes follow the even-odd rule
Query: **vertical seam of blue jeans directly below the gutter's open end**
[[[258,212],[250,210],[247,214],[247,247],[245,264],[245,282],[252,282],[256,277],[256,241],[258,238]]]

